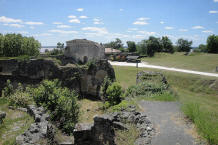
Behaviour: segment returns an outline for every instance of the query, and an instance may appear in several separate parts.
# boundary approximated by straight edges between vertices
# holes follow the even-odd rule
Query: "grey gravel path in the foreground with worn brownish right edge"
[[[197,133],[184,120],[178,102],[140,101],[140,108],[156,129],[152,145],[196,145]],[[202,143],[201,143],[202,144]]]

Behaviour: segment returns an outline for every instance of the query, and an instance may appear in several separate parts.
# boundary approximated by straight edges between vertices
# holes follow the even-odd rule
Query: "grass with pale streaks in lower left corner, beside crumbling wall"
[[[14,145],[16,137],[30,127],[33,118],[27,113],[8,109],[8,101],[4,98],[0,98],[0,110],[6,112],[0,125],[0,145]]]

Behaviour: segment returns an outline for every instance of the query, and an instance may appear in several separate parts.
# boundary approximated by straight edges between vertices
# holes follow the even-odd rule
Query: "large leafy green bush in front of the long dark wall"
[[[44,80],[32,95],[37,105],[42,105],[50,112],[52,121],[57,122],[66,133],[72,133],[79,115],[74,91],[62,88],[58,80]]]

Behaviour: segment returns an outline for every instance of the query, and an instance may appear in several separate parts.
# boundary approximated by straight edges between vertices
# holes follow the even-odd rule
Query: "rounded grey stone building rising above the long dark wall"
[[[73,57],[77,62],[86,63],[90,59],[104,59],[105,49],[100,44],[86,40],[75,39],[66,42],[67,46],[64,55]]]

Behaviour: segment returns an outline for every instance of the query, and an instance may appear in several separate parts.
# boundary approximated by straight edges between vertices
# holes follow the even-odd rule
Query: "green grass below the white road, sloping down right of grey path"
[[[124,88],[136,84],[137,70],[135,67],[113,67],[117,81]],[[218,144],[217,78],[148,68],[138,69],[138,71],[142,70],[163,73],[171,88],[179,96],[179,101],[183,104],[182,110],[193,120],[198,128],[199,134],[206,138],[210,144]],[[195,107],[192,108],[194,105],[199,107],[197,109]],[[191,110],[193,112],[189,113]]]

